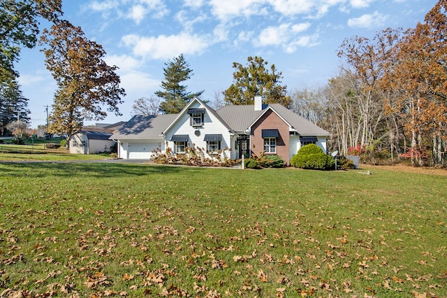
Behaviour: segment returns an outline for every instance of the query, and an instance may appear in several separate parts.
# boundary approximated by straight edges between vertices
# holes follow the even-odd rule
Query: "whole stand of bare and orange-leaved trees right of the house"
[[[348,67],[325,88],[332,124],[325,129],[335,136],[335,149],[379,145],[392,159],[445,165],[446,11],[447,0],[440,0],[413,29],[386,29],[372,39],[355,36],[342,43],[338,55]]]

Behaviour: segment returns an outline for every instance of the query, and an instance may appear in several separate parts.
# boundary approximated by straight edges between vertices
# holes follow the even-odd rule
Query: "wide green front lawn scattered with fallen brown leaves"
[[[0,164],[0,294],[447,297],[446,179]]]

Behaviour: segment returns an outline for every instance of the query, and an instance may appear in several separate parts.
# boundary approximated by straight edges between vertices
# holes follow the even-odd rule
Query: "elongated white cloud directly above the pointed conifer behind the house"
[[[209,44],[197,34],[144,37],[129,34],[122,37],[124,45],[133,47],[133,54],[149,59],[170,59],[180,54],[200,54]]]

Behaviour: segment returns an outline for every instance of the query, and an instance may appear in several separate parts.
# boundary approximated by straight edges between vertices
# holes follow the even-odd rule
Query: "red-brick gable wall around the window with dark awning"
[[[251,126],[251,151],[259,156],[264,151],[264,139],[262,138],[263,129],[278,129],[279,137],[277,138],[277,155],[283,159],[286,164],[290,164],[289,160],[289,143],[290,136],[288,125],[278,115],[271,110],[267,111],[254,125]]]

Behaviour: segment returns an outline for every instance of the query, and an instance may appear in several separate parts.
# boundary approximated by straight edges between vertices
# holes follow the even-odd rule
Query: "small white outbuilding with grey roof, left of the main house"
[[[110,140],[114,130],[95,127],[82,127],[71,134],[68,139],[70,153],[73,154],[96,154],[98,152],[110,151],[115,142]]]

